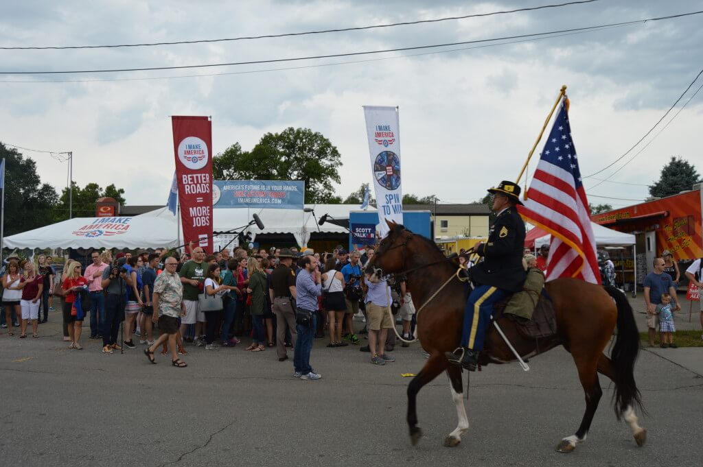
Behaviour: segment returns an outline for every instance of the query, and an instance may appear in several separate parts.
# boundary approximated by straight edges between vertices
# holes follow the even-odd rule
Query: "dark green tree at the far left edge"
[[[5,235],[14,235],[52,222],[56,190],[41,183],[34,160],[0,143],[0,159],[5,159]]]

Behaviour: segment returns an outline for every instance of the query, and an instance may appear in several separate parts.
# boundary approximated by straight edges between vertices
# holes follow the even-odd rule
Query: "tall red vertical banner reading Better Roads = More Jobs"
[[[183,241],[212,253],[212,124],[208,117],[171,117]]]

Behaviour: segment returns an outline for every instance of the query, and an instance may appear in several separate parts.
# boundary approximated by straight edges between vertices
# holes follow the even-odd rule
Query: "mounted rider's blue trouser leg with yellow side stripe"
[[[461,345],[473,350],[483,350],[486,328],[491,322],[493,305],[510,292],[490,285],[478,285],[471,291],[464,310],[464,329]]]

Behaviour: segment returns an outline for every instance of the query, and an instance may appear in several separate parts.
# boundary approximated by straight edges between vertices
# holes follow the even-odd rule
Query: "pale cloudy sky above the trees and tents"
[[[566,1],[124,0],[90,2],[89,7],[88,2],[74,0],[3,2],[0,46],[219,39],[429,20]],[[356,53],[702,10],[701,0],[600,0],[484,18],[276,39],[0,50],[0,71],[168,67]],[[588,175],[614,162],[701,71],[702,24],[703,15],[690,15],[540,39],[292,63],[1,74],[0,141],[70,150],[79,185],[115,183],[125,188],[127,204],[164,204],[174,171],[169,115],[212,116],[216,153],[236,142],[250,149],[268,131],[303,126],[323,133],[340,150],[344,166],[338,193],[346,196],[371,177],[361,106],[397,105],[404,192],[436,194],[444,202],[471,202],[500,180],[516,178],[562,84],[567,84],[571,100],[581,173]],[[703,92],[659,134],[701,85],[703,76],[642,144],[595,176],[607,178],[639,152],[610,181],[585,180],[592,203],[625,206],[633,204],[630,199],[643,199],[644,185],[658,178],[672,155],[688,159],[703,172],[699,143]],[[37,161],[42,180],[59,189],[66,185],[65,162],[49,154],[24,154]],[[535,165],[536,160],[531,169]]]

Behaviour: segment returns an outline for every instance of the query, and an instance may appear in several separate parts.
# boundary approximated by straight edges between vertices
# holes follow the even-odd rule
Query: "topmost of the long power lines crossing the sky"
[[[489,13],[475,13],[472,15],[463,16],[449,16],[446,18],[437,18],[434,20],[418,20],[418,21],[407,21],[407,22],[394,22],[388,25],[370,25],[370,26],[359,26],[359,27],[344,27],[340,29],[323,29],[318,31],[307,31],[307,32],[286,32],[283,34],[266,34],[262,36],[243,36],[243,37],[230,37],[225,39],[198,39],[195,41],[174,41],[174,42],[153,42],[145,44],[112,44],[103,46],[25,46],[25,47],[1,47],[0,50],[6,51],[26,51],[26,50],[65,50],[65,49],[79,49],[79,48],[118,48],[118,47],[148,47],[148,46],[174,46],[181,44],[204,44],[213,42],[226,42],[226,41],[244,41],[244,40],[254,40],[254,39],[275,39],[279,37],[295,37],[295,36],[306,36],[310,34],[327,34],[330,32],[348,32],[348,31],[363,31],[366,29],[378,29],[385,27],[395,27],[395,26],[408,26],[408,25],[420,25],[432,22],[441,22],[449,20],[465,20],[467,18],[480,18],[485,16],[493,15],[505,15],[508,13],[518,13],[521,11],[535,11],[542,10],[544,8],[560,8],[562,6],[578,5],[578,4],[590,4],[594,1],[599,0],[582,0],[582,1],[569,1],[565,4],[553,4],[553,5],[543,5],[543,6],[533,6],[529,8],[517,8],[515,10],[507,11],[492,11]]]

